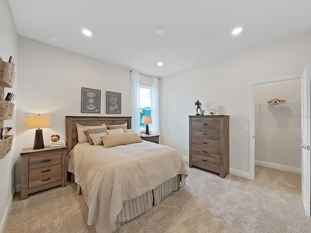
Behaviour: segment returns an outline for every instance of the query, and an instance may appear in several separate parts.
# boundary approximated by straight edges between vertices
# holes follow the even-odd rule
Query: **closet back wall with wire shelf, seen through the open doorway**
[[[300,79],[255,85],[255,160],[301,168]],[[279,105],[267,100],[285,99]],[[291,101],[297,102],[291,102]],[[260,104],[260,105],[259,105]],[[283,167],[285,166],[285,167]]]

